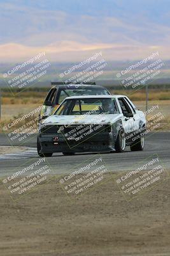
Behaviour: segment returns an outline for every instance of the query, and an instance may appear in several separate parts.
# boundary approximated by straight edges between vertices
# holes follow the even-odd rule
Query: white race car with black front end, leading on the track
[[[146,118],[124,95],[67,97],[39,127],[39,156],[143,150]]]

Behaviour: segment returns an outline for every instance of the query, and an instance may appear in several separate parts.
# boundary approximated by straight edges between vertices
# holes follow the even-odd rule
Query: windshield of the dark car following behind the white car
[[[103,88],[78,88],[61,90],[59,104],[66,99],[66,97],[80,96],[80,95],[109,95],[108,91]]]

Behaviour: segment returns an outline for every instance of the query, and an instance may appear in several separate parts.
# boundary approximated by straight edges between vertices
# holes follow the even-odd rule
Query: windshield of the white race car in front
[[[99,115],[117,114],[115,99],[67,99],[57,109],[54,115]]]

